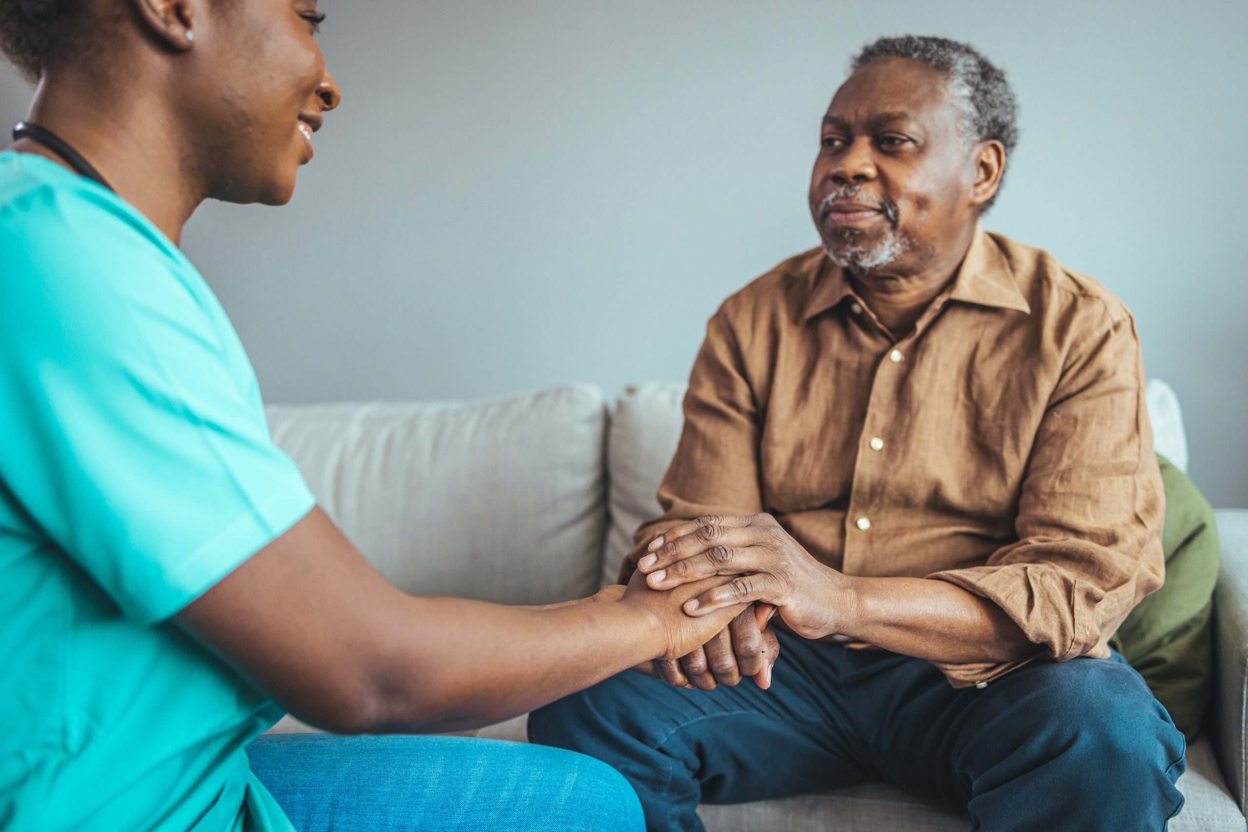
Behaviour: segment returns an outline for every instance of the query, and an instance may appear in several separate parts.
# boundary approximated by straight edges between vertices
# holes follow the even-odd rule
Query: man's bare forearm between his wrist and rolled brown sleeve
[[[947,581],[836,575],[836,630],[929,661],[1011,661],[1040,647],[996,604]]]

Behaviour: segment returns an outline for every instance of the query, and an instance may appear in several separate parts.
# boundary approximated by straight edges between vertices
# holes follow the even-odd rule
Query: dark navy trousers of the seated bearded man
[[[1183,735],[1117,654],[955,690],[919,659],[779,637],[770,690],[620,674],[534,711],[529,738],[618,768],[655,831],[701,830],[699,801],[865,781],[992,832],[1159,832],[1183,805]]]

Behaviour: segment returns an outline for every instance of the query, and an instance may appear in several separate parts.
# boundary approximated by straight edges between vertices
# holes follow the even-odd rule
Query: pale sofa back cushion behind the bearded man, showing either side
[[[633,550],[636,528],[660,511],[655,493],[680,439],[684,395],[684,384],[638,384],[626,388],[615,405],[607,439],[610,529],[603,554],[604,584],[615,583],[620,561]],[[1146,398],[1157,453],[1186,472],[1187,438],[1178,397],[1166,382],[1151,379]]]

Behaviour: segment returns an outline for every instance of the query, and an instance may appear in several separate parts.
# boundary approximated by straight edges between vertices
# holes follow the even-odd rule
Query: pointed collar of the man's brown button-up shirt
[[[844,269],[825,257],[815,274],[815,287],[806,301],[802,318],[810,321],[847,297],[857,298]],[[1031,314],[1031,306],[1015,282],[1013,269],[1005,252],[978,223],[975,226],[971,247],[966,251],[962,266],[953,279],[948,299]]]

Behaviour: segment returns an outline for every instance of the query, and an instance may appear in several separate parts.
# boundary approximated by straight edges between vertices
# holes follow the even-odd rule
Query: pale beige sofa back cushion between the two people
[[[276,405],[268,419],[321,508],[399,589],[508,604],[597,589],[607,525],[598,388]]]

